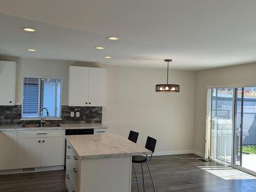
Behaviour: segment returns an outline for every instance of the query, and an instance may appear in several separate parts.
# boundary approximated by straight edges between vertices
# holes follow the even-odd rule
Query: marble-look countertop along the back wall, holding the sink
[[[54,127],[21,127],[20,124],[0,125],[0,131],[35,131],[35,130],[67,130],[67,129],[101,129],[108,128],[102,123],[62,123]]]

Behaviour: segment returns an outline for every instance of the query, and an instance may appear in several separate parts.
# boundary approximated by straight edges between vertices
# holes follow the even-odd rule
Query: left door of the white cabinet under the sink
[[[17,168],[41,165],[41,138],[22,138],[17,144]]]

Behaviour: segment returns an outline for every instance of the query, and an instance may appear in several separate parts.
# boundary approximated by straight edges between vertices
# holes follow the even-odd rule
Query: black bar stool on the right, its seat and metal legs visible
[[[151,157],[150,157],[149,160],[147,159],[147,156],[141,156],[141,155],[133,156],[133,161],[132,161],[133,165],[134,165],[134,163],[140,163],[140,165],[141,165],[142,182],[138,182],[138,180],[136,180],[135,183],[132,183],[132,184],[137,184],[138,191],[139,191],[139,187],[138,187],[139,183],[143,183],[143,191],[145,191],[145,182],[144,182],[144,174],[143,174],[142,163],[146,163],[147,168],[148,168],[148,172],[150,172],[150,177],[151,177],[151,181],[152,181],[152,184],[153,184],[154,191],[156,192],[156,187],[155,187],[155,183],[154,183],[152,173],[151,173],[151,170],[150,170],[150,165],[148,164],[148,161],[150,161],[152,159],[152,155],[155,152],[156,142],[157,142],[157,140],[152,138],[152,137],[147,137],[147,139],[146,139],[145,148],[152,151],[152,154],[151,154]],[[138,177],[137,177],[137,172],[136,172],[135,165],[134,165],[134,169],[135,169],[135,175],[136,175],[136,179],[137,179]]]

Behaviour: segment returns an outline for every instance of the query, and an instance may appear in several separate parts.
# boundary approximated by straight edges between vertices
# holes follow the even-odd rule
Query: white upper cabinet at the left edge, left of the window
[[[15,104],[16,63],[0,61],[0,105]]]

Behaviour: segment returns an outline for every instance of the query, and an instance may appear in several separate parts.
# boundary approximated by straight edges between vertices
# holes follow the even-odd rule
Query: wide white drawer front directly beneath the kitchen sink
[[[18,138],[64,137],[64,130],[18,131]]]

